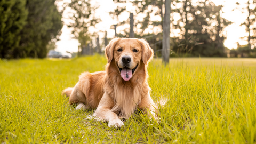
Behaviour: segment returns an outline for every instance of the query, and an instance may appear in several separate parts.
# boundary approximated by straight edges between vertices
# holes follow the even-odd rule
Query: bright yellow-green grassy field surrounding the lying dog
[[[135,113],[121,129],[87,119],[61,92],[105,57],[0,60],[0,143],[255,143],[256,59],[174,58],[150,62],[161,122]]]

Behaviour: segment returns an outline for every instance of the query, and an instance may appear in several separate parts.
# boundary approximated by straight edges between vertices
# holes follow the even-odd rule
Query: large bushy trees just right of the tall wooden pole
[[[184,0],[183,9],[173,11],[180,13],[181,19],[173,23],[174,29],[180,29],[182,37],[174,38],[177,43],[173,51],[190,53],[192,56],[225,57],[222,34],[223,28],[229,25],[226,19],[221,18],[222,6],[213,2]]]

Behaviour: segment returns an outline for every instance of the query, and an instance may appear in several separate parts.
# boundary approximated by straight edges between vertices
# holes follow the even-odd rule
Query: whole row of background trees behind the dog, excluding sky
[[[100,22],[100,18],[95,16],[99,5],[91,0],[71,0],[62,5],[63,10],[59,11],[55,5],[59,1],[65,3],[62,0],[1,1],[0,58],[44,58],[48,49],[54,49],[54,43],[61,34],[63,10],[68,11],[68,22],[65,25],[71,29],[73,38],[78,39],[81,44],[78,52],[81,49],[92,51],[92,40],[94,45],[98,45],[94,51],[101,52],[103,46],[100,47],[100,38],[90,30]],[[154,49],[155,55],[162,57],[163,53],[166,53],[162,49],[163,31],[166,31],[163,30],[166,1],[114,0],[117,7],[110,15],[117,21],[117,27],[124,28],[118,31],[117,36],[145,38]],[[224,34],[225,28],[231,23],[222,17],[223,5],[215,5],[211,0],[175,0],[168,5],[171,5],[172,9],[171,33],[170,42],[164,48],[170,46],[170,52],[167,54],[172,57],[256,56],[256,49],[253,50],[256,47],[256,0],[246,0],[242,5],[237,3],[236,9],[247,14],[241,25],[245,26],[248,33],[248,36],[243,37],[248,45],[247,48],[238,45],[239,50],[232,51],[223,44],[227,36]],[[132,28],[129,27],[132,19],[119,20],[123,13],[133,15]],[[99,40],[96,42],[96,39]]]

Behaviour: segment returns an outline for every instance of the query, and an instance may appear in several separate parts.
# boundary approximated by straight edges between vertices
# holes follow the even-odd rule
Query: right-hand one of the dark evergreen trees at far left
[[[27,0],[27,23],[21,30],[20,46],[14,50],[13,57],[46,57],[48,42],[58,39],[62,28],[62,13],[54,3],[54,0]]]

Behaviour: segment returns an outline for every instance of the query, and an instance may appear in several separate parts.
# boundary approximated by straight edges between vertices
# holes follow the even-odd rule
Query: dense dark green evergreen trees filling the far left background
[[[60,35],[61,12],[54,0],[0,2],[1,58],[44,58],[46,45]],[[8,37],[8,38],[6,38]]]

